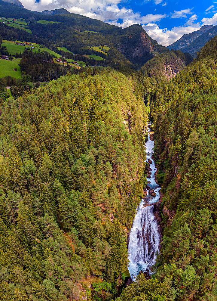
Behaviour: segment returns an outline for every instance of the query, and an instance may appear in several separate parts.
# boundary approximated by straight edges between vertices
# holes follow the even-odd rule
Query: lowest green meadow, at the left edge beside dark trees
[[[0,60],[0,77],[10,75],[15,78],[21,78],[19,63],[20,58],[15,58],[13,61]],[[14,71],[14,68],[17,68],[17,71]]]

